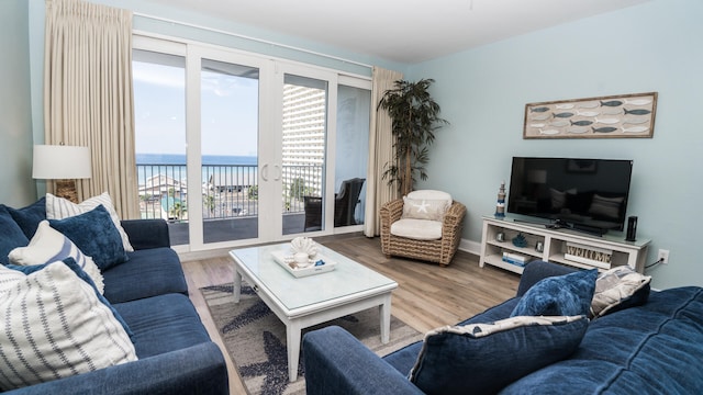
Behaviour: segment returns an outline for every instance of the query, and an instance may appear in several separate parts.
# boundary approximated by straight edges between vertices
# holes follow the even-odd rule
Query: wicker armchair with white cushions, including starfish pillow
[[[446,267],[459,247],[466,206],[442,191],[413,191],[380,210],[386,257],[413,258]]]

